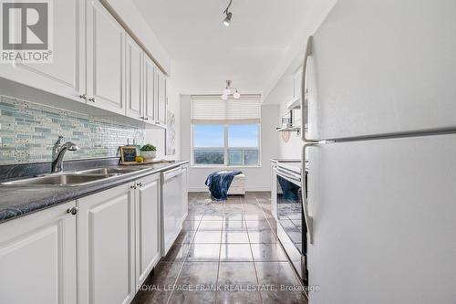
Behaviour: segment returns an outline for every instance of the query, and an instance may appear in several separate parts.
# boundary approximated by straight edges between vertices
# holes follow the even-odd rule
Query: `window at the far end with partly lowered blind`
[[[192,164],[249,166],[260,163],[259,97],[220,100],[192,97]]]

